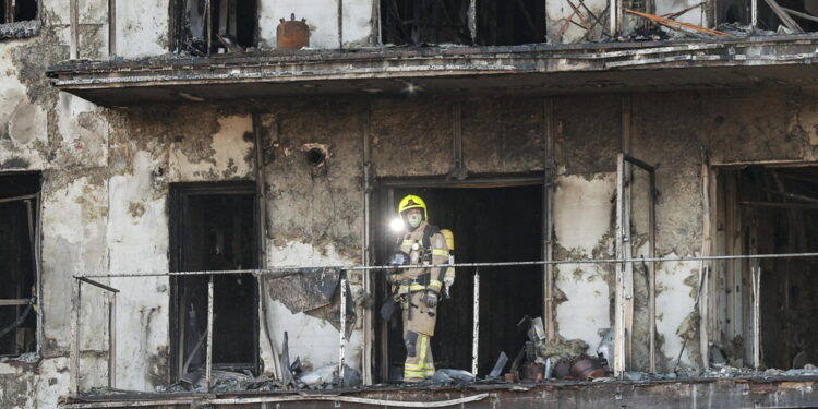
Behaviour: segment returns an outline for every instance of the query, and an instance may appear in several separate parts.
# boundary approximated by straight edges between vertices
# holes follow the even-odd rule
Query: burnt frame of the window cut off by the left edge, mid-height
[[[31,242],[31,251],[32,251],[32,273],[34,275],[33,279],[33,289],[31,298],[26,299],[8,299],[8,298],[1,298],[0,299],[0,308],[31,308],[31,311],[27,314],[34,314],[35,320],[35,330],[34,330],[34,348],[33,350],[17,352],[17,353],[3,353],[0,351],[0,359],[15,359],[19,357],[22,357],[24,354],[35,354],[36,357],[41,356],[41,347],[43,347],[43,308],[40,304],[40,300],[43,298],[43,274],[41,274],[41,249],[43,249],[43,240],[41,240],[41,219],[43,219],[43,183],[44,183],[44,177],[43,173],[39,171],[21,171],[21,172],[0,172],[0,183],[3,182],[7,178],[14,178],[14,177],[32,177],[37,179],[37,185],[35,193],[26,193],[23,195],[15,195],[15,196],[3,196],[0,195],[0,204],[2,203],[10,203],[10,202],[26,202],[28,206],[28,216],[29,216],[29,236],[32,238]],[[25,302],[24,302],[25,301]],[[17,312],[17,315],[20,315],[20,311]],[[21,320],[20,316],[17,316],[17,320]],[[21,323],[15,323],[13,326],[17,327],[20,326],[26,318],[23,317]],[[0,330],[3,330],[5,328],[0,328]]]

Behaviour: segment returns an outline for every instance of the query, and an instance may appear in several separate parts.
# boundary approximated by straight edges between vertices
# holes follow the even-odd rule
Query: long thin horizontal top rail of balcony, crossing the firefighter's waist
[[[425,265],[377,265],[377,266],[337,266],[344,272],[353,270],[373,270],[373,269],[406,269],[406,268],[443,268],[443,267],[522,267],[537,265],[560,265],[560,264],[623,264],[623,263],[679,263],[679,262],[698,262],[701,260],[765,260],[765,258],[795,258],[795,257],[818,257],[818,252],[814,253],[782,253],[782,254],[744,254],[744,255],[694,255],[676,257],[648,257],[648,258],[577,258],[577,260],[554,260],[554,261],[530,261],[530,262],[496,262],[496,263],[455,263],[455,264],[425,264]],[[269,269],[233,269],[233,270],[215,270],[215,272],[165,272],[165,273],[129,273],[129,274],[89,274],[84,276],[73,276],[80,278],[128,278],[128,277],[166,277],[166,276],[206,276],[219,274],[258,274],[273,275],[273,278],[287,277],[297,274],[306,274],[306,269],[328,268],[327,266],[302,266],[302,267],[278,267]],[[317,274],[317,273],[316,273]]]

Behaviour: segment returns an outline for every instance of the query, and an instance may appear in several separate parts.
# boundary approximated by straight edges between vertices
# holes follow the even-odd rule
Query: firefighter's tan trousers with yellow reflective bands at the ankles
[[[437,320],[437,306],[429,306],[423,301],[423,291],[412,292],[402,303],[404,344],[406,363],[404,381],[418,382],[434,375],[432,358],[432,336]]]

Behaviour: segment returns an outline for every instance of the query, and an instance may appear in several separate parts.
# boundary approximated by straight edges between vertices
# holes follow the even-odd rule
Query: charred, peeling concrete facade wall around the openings
[[[81,13],[81,22],[85,22],[81,53],[103,56],[105,41],[97,39],[107,33],[100,17],[105,4],[83,3],[87,10]],[[152,7],[166,10],[166,4],[120,3],[123,16],[118,29],[129,33],[120,39],[120,45],[128,45],[122,49],[131,57],[165,52],[167,40],[161,33],[167,21],[136,15]],[[354,4],[350,2],[350,8]],[[0,77],[0,171],[44,175],[39,309],[44,337],[39,354],[0,362],[0,407],[51,408],[68,393],[72,275],[168,269],[169,183],[253,178],[249,107],[190,105],[115,111],[49,87],[43,75],[46,68],[68,58],[65,9],[64,2],[45,2],[38,35],[0,43],[0,72],[4,73]],[[350,11],[349,15],[358,13],[365,14]],[[304,14],[311,19],[309,11]],[[134,19],[131,25],[128,16]],[[344,32],[356,33],[346,28],[346,21]],[[349,24],[360,28],[362,21]],[[142,36],[143,31],[159,34]],[[366,29],[360,28],[360,37],[345,34],[344,38],[364,38],[364,33]],[[330,45],[340,37],[328,34],[322,38],[327,47],[334,47]],[[714,164],[816,160],[815,89],[649,93],[631,98],[631,153],[659,166],[655,244],[660,256],[702,252],[702,152]],[[454,104],[461,106],[464,154],[472,175],[542,171],[545,122],[540,98],[420,96],[254,106],[264,112],[268,264],[358,264],[363,230],[364,121],[371,118],[376,177],[442,177],[453,166]],[[610,256],[614,252],[621,98],[555,97],[554,111],[556,256]],[[322,167],[304,160],[303,151],[313,144],[328,149]],[[643,215],[643,204],[635,203],[635,215]],[[637,216],[635,236],[640,238],[639,252],[643,253],[647,229],[643,217]],[[591,346],[599,342],[597,329],[612,322],[612,279],[605,266],[557,268],[561,336],[580,338]],[[352,275],[350,280],[356,292],[361,277]],[[109,284],[123,289],[118,352],[128,358],[117,362],[117,385],[153,390],[168,374],[169,282],[165,278],[120,278]],[[643,299],[645,286],[636,287]],[[700,362],[698,327],[691,325],[698,263],[660,265],[658,287],[662,368],[670,368],[683,337],[691,340],[683,362],[695,366]],[[107,306],[103,293],[95,289],[86,290],[83,299],[81,386],[87,389],[105,384]],[[270,302],[277,342],[287,330],[293,356],[315,366],[337,360],[338,330],[330,323],[292,314],[276,300]],[[643,303],[637,302],[636,351],[647,348],[646,314]],[[360,366],[362,333],[360,325],[356,327],[349,359]],[[263,335],[261,346],[269,368],[272,354]],[[634,364],[645,368],[646,362]]]

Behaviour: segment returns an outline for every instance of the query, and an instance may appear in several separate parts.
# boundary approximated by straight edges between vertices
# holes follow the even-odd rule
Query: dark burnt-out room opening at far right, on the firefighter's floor
[[[814,228],[818,224],[818,167],[749,166],[724,170],[721,172],[721,185],[726,208],[720,224],[724,227],[726,242],[733,243],[732,250],[727,245],[727,253],[818,251],[818,230]],[[727,263],[727,274],[731,274],[731,269],[741,270],[736,278],[727,280],[733,282],[731,288],[735,289],[730,296],[741,300],[735,302],[734,311],[729,314],[727,325],[744,328],[731,335],[743,333],[745,341],[753,334],[753,266],[761,272],[759,317],[762,366],[789,370],[814,363],[818,359],[818,321],[815,320],[818,300],[811,291],[818,288],[818,258],[762,258],[758,262]],[[751,351],[746,344],[743,349]],[[745,359],[744,362],[748,361]]]

